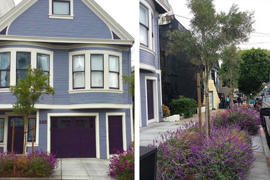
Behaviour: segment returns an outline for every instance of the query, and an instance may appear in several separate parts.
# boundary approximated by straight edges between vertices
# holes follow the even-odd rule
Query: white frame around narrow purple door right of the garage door
[[[107,144],[107,159],[111,156],[109,155],[109,116],[122,116],[122,133],[123,133],[123,150],[127,150],[127,132],[125,124],[125,113],[124,112],[115,112],[115,113],[106,113],[106,144]],[[131,117],[132,118],[132,117]]]

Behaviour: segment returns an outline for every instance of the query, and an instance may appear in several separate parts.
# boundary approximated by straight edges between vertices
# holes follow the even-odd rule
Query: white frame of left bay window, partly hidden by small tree
[[[17,78],[17,52],[30,53],[31,68],[37,68],[37,54],[46,54],[50,56],[49,82],[53,87],[53,51],[47,51],[38,48],[1,48],[0,53],[10,52],[10,86],[16,85]],[[10,88],[2,88],[1,92],[10,92]]]

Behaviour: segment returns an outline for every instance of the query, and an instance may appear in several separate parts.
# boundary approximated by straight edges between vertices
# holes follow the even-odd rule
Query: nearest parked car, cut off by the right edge
[[[264,128],[267,144],[270,147],[270,95],[263,96],[260,102],[262,105],[260,109],[260,116],[262,117],[262,127]]]

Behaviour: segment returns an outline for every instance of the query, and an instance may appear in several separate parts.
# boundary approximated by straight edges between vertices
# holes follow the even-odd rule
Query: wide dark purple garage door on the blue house
[[[95,118],[52,117],[51,152],[57,158],[96,157]]]

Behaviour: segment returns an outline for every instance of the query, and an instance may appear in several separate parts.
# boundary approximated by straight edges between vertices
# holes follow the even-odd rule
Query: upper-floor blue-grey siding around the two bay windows
[[[24,47],[37,48],[53,51],[53,87],[55,88],[55,95],[42,95],[37,104],[50,105],[75,105],[75,104],[92,104],[92,103],[109,103],[109,104],[132,104],[132,99],[127,92],[127,84],[123,83],[123,93],[69,93],[69,49],[51,49],[40,48],[38,46],[1,46],[0,48]],[[82,50],[97,50],[97,48],[76,48],[72,51]],[[130,51],[116,51],[111,48],[98,48],[103,51],[113,51],[122,53],[122,71],[123,74],[129,75],[130,68]],[[120,77],[121,78],[121,77]],[[87,98],[85,98],[87,97]],[[16,101],[12,93],[0,93],[2,104],[13,104]]]

